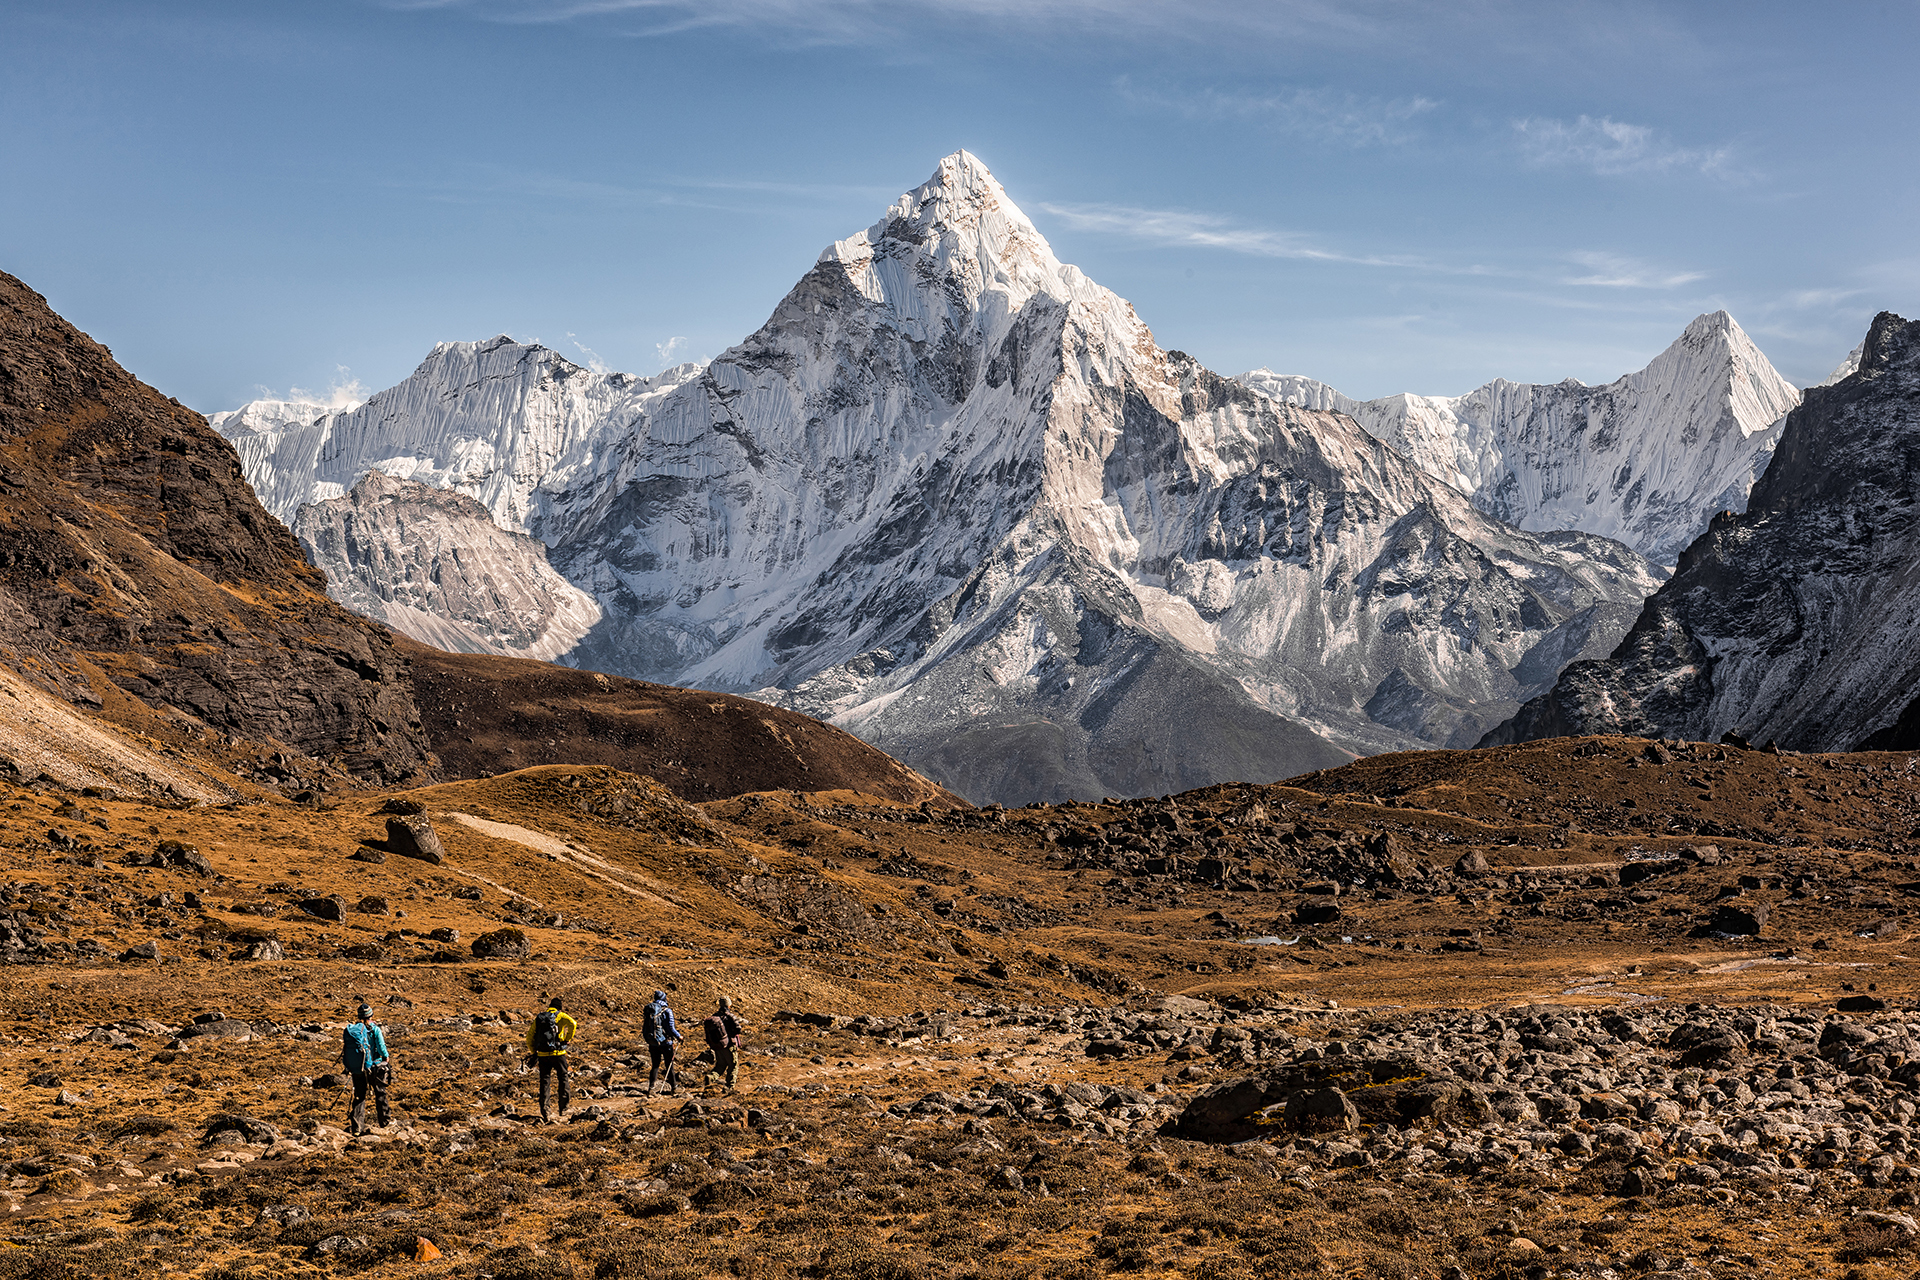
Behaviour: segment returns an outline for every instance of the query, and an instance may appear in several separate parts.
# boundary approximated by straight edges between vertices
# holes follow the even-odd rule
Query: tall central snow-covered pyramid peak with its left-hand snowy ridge
[[[597,603],[563,662],[831,718],[975,800],[1471,743],[1659,580],[1164,351],[966,152],[707,367],[447,344],[236,445],[282,518],[369,470],[457,489]],[[430,545],[432,507],[403,514]],[[434,572],[351,537],[317,558],[380,599]]]

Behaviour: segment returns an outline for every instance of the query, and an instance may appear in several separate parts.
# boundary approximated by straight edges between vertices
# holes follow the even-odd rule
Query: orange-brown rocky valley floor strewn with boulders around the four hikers
[[[0,1276],[1920,1265],[1908,754],[1563,739],[1023,810],[276,768],[319,781],[0,793]],[[739,1004],[739,1092],[643,1092],[655,986]],[[399,1079],[351,1140],[359,998]]]

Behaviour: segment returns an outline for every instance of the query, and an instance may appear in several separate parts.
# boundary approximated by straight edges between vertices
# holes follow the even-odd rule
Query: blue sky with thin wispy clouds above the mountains
[[[1920,6],[12,0],[0,269],[196,409],[507,332],[653,372],[941,155],[1162,345],[1352,395],[1793,382],[1920,315]]]

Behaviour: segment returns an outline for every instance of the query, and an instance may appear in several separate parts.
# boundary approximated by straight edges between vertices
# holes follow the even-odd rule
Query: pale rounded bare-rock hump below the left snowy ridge
[[[601,618],[536,537],[457,489],[371,470],[346,497],[294,512],[294,535],[357,614],[453,652],[553,658]]]

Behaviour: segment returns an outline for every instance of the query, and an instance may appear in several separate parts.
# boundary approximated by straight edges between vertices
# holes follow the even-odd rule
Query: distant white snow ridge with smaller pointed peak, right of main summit
[[[1496,380],[1467,395],[1354,401],[1258,368],[1240,382],[1332,409],[1523,530],[1586,530],[1672,564],[1720,510],[1745,510],[1799,391],[1724,311],[1607,386]]]

